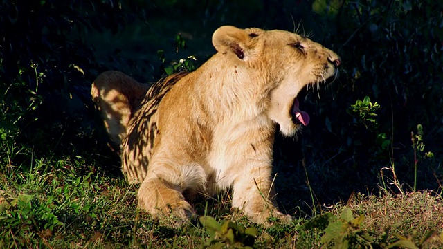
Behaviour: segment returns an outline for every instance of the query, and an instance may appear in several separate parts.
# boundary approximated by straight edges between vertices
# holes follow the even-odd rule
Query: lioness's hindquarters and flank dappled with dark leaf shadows
[[[159,131],[159,103],[187,74],[177,73],[154,84],[141,84],[120,71],[106,71],[94,80],[91,95],[102,111],[111,140],[121,151],[122,171],[128,183],[141,183],[145,178]]]

